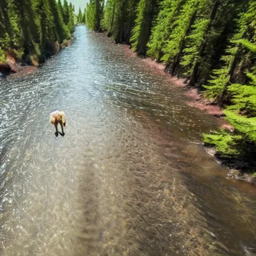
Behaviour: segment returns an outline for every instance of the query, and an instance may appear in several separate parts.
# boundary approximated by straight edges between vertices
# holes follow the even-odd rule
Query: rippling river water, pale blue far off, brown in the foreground
[[[256,189],[201,144],[217,119],[123,45],[78,26],[0,90],[0,255],[256,255]]]

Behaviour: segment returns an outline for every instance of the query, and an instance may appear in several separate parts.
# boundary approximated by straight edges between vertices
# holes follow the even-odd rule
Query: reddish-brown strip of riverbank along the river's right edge
[[[184,96],[187,97],[187,105],[217,117],[218,125],[220,128],[230,132],[234,130],[234,127],[224,118],[225,114],[223,113],[223,109],[217,104],[212,104],[209,99],[205,98],[199,88],[191,87],[184,78],[178,78],[165,72],[165,65],[163,63],[156,62],[150,57],[142,58],[141,56],[137,56],[136,53],[130,49],[128,44],[120,45],[122,45],[121,47],[123,47],[123,50],[127,56],[141,58],[147,66],[152,68],[153,73],[164,75],[166,79],[174,86],[183,87]],[[227,158],[223,159],[222,157],[218,156],[214,147],[208,146],[206,144],[204,145],[208,154],[214,157],[219,164],[229,169],[227,178],[239,179],[256,185],[256,175],[250,172],[246,172],[246,163],[241,163],[240,161],[234,162],[228,160]]]

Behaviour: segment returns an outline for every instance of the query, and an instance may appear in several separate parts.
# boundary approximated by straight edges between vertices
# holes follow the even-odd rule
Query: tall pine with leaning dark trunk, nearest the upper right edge
[[[248,49],[241,43],[241,39],[247,35],[251,37],[250,30],[252,30],[252,34],[255,34],[255,31],[253,32],[253,23],[256,17],[254,5],[255,2],[250,0],[247,11],[240,12],[237,19],[237,29],[228,42],[228,48],[225,51],[226,54],[221,56],[223,63],[221,68],[213,69],[208,84],[203,85],[206,89],[204,95],[216,99],[220,104],[227,100],[227,87],[231,82],[245,81],[244,70],[242,69],[245,69],[244,65],[246,64],[244,64],[244,61],[250,62],[247,58],[251,58],[251,56],[250,53],[248,53]],[[247,57],[245,58],[245,56]]]

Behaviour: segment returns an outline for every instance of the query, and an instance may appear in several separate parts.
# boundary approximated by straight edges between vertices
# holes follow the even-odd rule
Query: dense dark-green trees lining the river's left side
[[[70,39],[74,16],[66,0],[0,0],[0,62],[10,55],[38,65]]]

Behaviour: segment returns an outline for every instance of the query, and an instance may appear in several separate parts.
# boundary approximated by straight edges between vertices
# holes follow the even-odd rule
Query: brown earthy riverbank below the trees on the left
[[[61,44],[58,41],[48,42],[45,46],[44,54],[37,56],[36,54],[23,54],[21,59],[17,57],[13,50],[6,53],[6,59],[4,62],[0,62],[0,76],[4,75],[26,75],[33,72],[36,67],[40,66],[50,56],[58,53],[60,50],[68,47],[73,41],[73,37],[70,39],[64,39]]]

